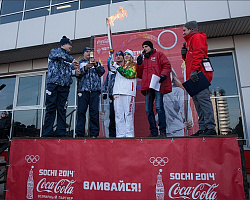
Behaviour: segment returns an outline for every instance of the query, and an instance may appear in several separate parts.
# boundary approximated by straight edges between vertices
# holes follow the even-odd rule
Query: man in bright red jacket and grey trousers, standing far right
[[[205,69],[202,60],[208,58],[207,36],[198,31],[196,21],[187,22],[183,27],[186,43],[181,49],[182,58],[186,63],[186,78],[198,81],[197,73],[202,71],[209,82],[212,81],[213,71]],[[206,88],[193,97],[194,105],[199,116],[199,131],[192,136],[216,135],[214,112],[210,100],[209,89]]]

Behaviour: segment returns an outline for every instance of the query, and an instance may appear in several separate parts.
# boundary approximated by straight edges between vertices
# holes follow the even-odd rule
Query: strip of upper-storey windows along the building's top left
[[[126,0],[0,0],[0,24],[122,1]]]

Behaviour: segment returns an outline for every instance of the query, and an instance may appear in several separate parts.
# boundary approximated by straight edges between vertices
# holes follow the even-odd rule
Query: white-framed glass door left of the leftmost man
[[[45,73],[16,77],[12,137],[41,135]]]

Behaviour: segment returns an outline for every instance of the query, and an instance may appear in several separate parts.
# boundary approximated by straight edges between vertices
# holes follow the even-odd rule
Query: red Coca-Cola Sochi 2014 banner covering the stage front
[[[6,199],[245,199],[236,138],[12,140]]]

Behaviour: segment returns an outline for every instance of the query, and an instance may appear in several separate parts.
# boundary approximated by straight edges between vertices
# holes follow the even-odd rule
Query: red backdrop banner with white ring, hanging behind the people
[[[175,73],[173,81],[173,92],[164,97],[164,105],[167,120],[167,133],[172,136],[191,135],[198,130],[197,113],[193,102],[189,99],[181,83],[185,81],[185,70],[180,50],[183,45],[182,27],[157,29],[144,32],[133,32],[127,34],[113,35],[113,48],[115,53],[119,50],[125,52],[130,49],[134,53],[134,60],[142,51],[142,43],[150,40],[157,51],[163,52],[169,59],[172,69]],[[96,37],[94,41],[95,58],[100,61],[107,69],[107,59],[109,57],[108,37]],[[105,74],[106,76],[106,74]],[[104,78],[105,78],[104,76]],[[135,136],[145,137],[149,135],[149,124],[145,111],[145,97],[140,92],[141,80],[137,82],[137,93],[135,99]],[[105,102],[104,102],[105,104]],[[169,109],[170,108],[170,109]],[[173,109],[171,109],[173,108]],[[104,110],[107,110],[105,107]],[[105,113],[104,113],[105,115]],[[106,118],[108,120],[108,116]],[[184,122],[193,124],[193,128],[187,132]],[[104,122],[108,125],[108,122]],[[105,135],[105,134],[104,134]]]

